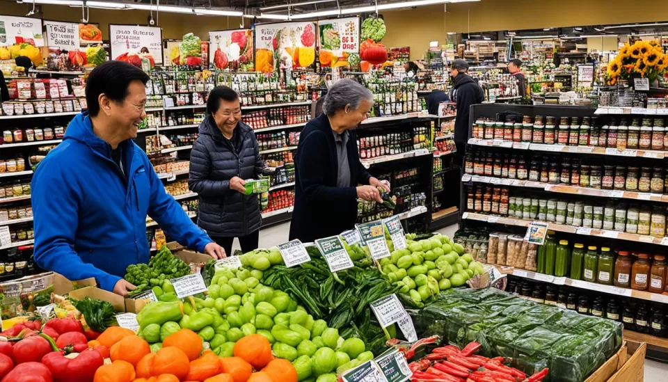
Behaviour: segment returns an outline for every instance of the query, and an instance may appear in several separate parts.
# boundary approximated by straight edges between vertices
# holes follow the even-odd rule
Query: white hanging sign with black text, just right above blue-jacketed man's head
[[[162,29],[154,26],[109,24],[111,58],[122,55],[152,56],[156,65],[162,64]]]

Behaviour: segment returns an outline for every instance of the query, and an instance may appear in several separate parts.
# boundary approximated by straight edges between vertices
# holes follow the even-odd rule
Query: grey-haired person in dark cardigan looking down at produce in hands
[[[323,113],[306,124],[295,154],[290,239],[314,241],[355,227],[357,198],[382,202],[384,182],[362,166],[354,129],[367,119],[374,95],[352,79],[329,90]],[[364,184],[358,186],[358,184]]]

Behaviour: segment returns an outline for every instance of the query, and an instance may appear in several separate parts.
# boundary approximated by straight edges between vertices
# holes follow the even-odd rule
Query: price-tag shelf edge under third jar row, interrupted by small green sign
[[[501,216],[477,214],[474,212],[464,212],[461,216],[464,220],[486,221],[487,223],[498,223],[505,225],[514,225],[516,227],[528,227],[532,220],[524,220],[519,218],[504,218]],[[645,234],[632,234],[628,232],[619,232],[612,230],[599,230],[597,228],[575,227],[575,225],[566,225],[558,223],[546,223],[548,230],[556,232],[566,232],[571,234],[582,234],[585,236],[606,237],[607,239],[619,239],[628,241],[641,241],[648,244],[661,244],[668,246],[668,237],[661,239],[657,237],[648,236]]]

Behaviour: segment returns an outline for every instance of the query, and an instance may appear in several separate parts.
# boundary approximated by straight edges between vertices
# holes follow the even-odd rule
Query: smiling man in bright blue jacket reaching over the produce
[[[70,280],[94,277],[122,296],[135,289],[122,278],[126,267],[149,260],[147,214],[180,243],[225,257],[132,141],[146,117],[148,79],[122,61],[96,67],[86,81],[88,111],[70,122],[32,182],[35,262]]]

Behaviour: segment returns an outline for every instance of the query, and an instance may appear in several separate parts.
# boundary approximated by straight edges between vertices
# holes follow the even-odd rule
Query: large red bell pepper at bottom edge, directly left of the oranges
[[[95,349],[84,350],[72,359],[53,351],[42,358],[42,363],[51,371],[54,382],[92,382],[104,359]]]

